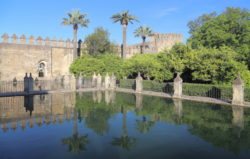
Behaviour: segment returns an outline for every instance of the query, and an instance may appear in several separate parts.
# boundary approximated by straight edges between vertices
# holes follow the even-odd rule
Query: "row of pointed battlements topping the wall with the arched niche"
[[[2,35],[1,43],[73,48],[73,42],[70,39],[67,39],[66,41],[62,39],[57,40],[55,38],[50,39],[48,37],[43,39],[40,36],[37,38],[34,36],[27,38],[25,35],[18,37],[16,34],[9,36],[6,33]]]

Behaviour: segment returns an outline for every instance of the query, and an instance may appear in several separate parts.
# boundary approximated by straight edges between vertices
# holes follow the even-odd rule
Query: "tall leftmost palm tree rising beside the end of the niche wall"
[[[63,18],[63,25],[72,25],[74,34],[74,59],[77,57],[77,31],[78,27],[88,27],[89,19],[86,14],[81,14],[79,10],[73,10],[68,13],[68,18]]]

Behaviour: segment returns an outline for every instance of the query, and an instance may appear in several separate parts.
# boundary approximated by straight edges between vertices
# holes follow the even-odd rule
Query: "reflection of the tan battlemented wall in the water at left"
[[[0,125],[4,131],[18,126],[24,129],[27,124],[33,127],[71,119],[75,93],[37,95],[33,97],[33,107],[32,102],[25,100],[23,96],[0,98]]]

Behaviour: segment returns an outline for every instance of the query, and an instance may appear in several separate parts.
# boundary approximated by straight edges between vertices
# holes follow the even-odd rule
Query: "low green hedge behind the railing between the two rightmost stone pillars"
[[[224,85],[183,83],[183,94],[232,100],[232,87]]]

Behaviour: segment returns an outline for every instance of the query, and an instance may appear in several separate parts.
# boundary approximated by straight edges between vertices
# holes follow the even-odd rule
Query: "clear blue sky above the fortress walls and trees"
[[[114,13],[129,10],[140,23],[129,25],[128,43],[140,42],[134,30],[140,25],[155,32],[180,33],[189,37],[187,23],[204,13],[221,13],[226,7],[250,9],[250,0],[1,0],[0,34],[16,33],[18,36],[42,36],[72,39],[72,27],[62,26],[63,17],[73,9],[88,15],[88,28],[79,29],[79,38],[102,26],[110,32],[112,41],[122,42],[121,26],[110,17]]]

